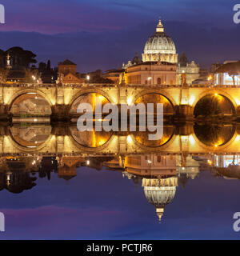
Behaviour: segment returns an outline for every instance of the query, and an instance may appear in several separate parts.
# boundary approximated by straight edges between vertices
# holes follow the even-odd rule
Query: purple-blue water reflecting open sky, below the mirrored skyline
[[[178,186],[174,200],[158,222],[142,186],[105,168],[78,168],[66,182],[51,175],[21,194],[2,190],[6,232],[1,238],[194,239],[239,238],[233,213],[240,208],[238,180],[202,172]]]

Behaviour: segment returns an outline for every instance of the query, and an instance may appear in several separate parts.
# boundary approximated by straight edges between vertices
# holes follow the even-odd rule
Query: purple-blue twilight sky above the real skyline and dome
[[[232,0],[2,0],[0,48],[23,46],[38,62],[63,58],[78,71],[107,70],[142,53],[161,16],[178,53],[202,66],[240,59]],[[8,31],[8,32],[6,32]],[[10,32],[9,32],[10,31]],[[18,31],[18,32],[17,32]],[[20,32],[19,32],[20,31]]]

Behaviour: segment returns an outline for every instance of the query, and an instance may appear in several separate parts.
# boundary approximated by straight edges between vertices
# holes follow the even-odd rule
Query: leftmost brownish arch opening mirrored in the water
[[[46,142],[51,130],[51,126],[13,126],[10,128],[10,133],[20,146],[34,148]]]

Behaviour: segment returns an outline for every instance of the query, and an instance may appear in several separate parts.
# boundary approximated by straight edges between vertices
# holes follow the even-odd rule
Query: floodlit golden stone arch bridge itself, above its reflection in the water
[[[174,106],[174,114],[192,119],[194,107],[207,94],[221,94],[234,106],[240,115],[240,86],[219,85],[116,85],[82,83],[74,85],[56,84],[2,84],[0,86],[0,115],[10,114],[13,102],[22,94],[40,94],[49,102],[53,114],[68,116],[73,102],[83,94],[102,94],[114,104],[133,104],[145,94],[161,94]],[[0,117],[2,119],[2,117]]]

